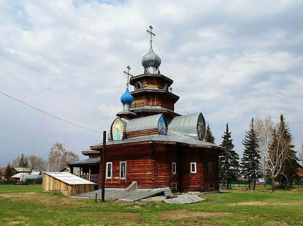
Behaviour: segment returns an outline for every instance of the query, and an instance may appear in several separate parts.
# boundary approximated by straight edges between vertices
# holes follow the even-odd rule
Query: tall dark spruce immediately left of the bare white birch
[[[241,158],[241,173],[244,178],[248,180],[248,188],[250,189],[250,183],[253,182],[253,190],[256,188],[256,180],[261,169],[261,156],[258,151],[258,140],[254,130],[254,118],[251,119],[250,130],[246,131],[244,140],[243,157]]]

